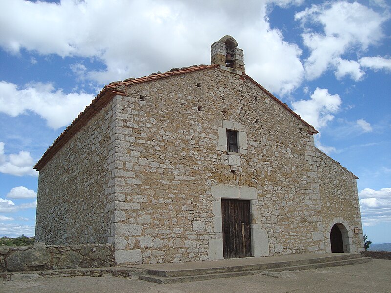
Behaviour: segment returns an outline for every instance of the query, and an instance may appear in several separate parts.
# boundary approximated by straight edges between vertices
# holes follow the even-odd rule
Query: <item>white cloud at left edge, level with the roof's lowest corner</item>
[[[6,155],[4,143],[0,142],[0,173],[15,176],[38,176],[33,169],[34,159],[28,151],[20,151],[18,154]]]

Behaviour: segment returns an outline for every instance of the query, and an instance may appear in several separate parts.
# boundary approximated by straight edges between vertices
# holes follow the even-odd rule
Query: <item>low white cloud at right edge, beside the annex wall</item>
[[[380,190],[365,188],[360,191],[359,198],[364,226],[391,222],[391,188]]]

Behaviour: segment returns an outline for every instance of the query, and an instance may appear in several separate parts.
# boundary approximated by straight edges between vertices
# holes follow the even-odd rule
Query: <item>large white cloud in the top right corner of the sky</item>
[[[295,19],[302,23],[303,42],[310,50],[304,63],[309,80],[330,68],[336,68],[338,78],[348,74],[359,80],[363,73],[358,63],[352,60],[341,63],[341,57],[352,50],[365,52],[369,45],[376,45],[384,37],[382,25],[389,15],[381,15],[357,2],[330,1],[296,13]],[[314,24],[320,25],[323,32],[313,30]]]

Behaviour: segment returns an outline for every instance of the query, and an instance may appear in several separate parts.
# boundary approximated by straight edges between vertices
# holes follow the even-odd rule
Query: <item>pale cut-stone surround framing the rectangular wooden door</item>
[[[250,186],[236,186],[228,184],[217,184],[211,187],[213,229],[215,239],[209,239],[209,260],[224,259],[222,239],[222,215],[221,198],[250,200],[251,213],[251,247],[254,257],[269,255],[269,238],[267,232],[262,228],[261,217],[258,213],[257,189]]]

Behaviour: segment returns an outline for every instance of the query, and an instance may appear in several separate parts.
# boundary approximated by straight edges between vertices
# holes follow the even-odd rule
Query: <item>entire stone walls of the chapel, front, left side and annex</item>
[[[346,252],[362,249],[356,177],[242,71],[196,66],[109,89],[36,165],[39,241],[114,243],[117,263],[221,259],[221,198],[237,198],[250,201],[254,256],[330,252],[337,223]]]

